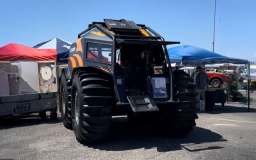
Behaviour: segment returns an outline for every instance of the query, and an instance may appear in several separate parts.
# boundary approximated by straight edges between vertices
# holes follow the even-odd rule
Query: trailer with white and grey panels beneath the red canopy
[[[51,111],[56,118],[55,61],[0,61],[0,116]]]

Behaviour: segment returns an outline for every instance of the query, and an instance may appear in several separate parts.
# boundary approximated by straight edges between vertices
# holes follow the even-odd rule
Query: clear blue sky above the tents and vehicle
[[[215,52],[256,61],[256,1],[216,0]],[[212,51],[214,0],[0,0],[0,46],[74,42],[92,21],[128,19]]]

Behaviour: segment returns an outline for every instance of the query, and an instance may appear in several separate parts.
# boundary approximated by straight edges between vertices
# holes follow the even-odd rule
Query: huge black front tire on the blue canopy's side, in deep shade
[[[196,93],[193,79],[183,70],[175,70],[174,93],[177,104],[161,106],[157,119],[157,129],[168,136],[185,136],[196,125]]]

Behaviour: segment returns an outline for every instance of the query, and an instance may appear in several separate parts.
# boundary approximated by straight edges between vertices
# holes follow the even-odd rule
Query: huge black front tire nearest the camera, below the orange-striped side
[[[109,136],[111,86],[99,74],[77,72],[72,83],[72,126],[79,143],[97,143]]]

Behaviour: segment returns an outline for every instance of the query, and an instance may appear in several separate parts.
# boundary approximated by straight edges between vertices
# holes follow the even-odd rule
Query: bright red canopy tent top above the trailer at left
[[[56,51],[52,49],[35,49],[26,45],[7,44],[0,47],[0,61],[49,61],[56,60]]]

